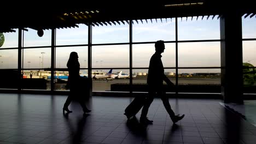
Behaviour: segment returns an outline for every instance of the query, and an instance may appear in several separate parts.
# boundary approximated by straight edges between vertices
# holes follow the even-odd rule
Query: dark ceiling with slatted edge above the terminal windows
[[[139,2],[139,3],[138,3]],[[169,17],[222,15],[224,13],[251,14],[251,1],[172,0],[172,1],[110,1],[94,3],[69,1],[62,3],[22,3],[1,9],[0,32],[16,28],[51,29],[78,27],[78,23],[92,26],[129,23],[129,20]],[[8,5],[8,4],[5,4]]]

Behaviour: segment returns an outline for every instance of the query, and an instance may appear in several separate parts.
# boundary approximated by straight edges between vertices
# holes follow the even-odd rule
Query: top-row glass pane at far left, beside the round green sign
[[[16,32],[12,33],[2,33],[1,34],[1,48],[8,48],[8,47],[18,47],[18,29],[14,29]],[[4,39],[4,41],[3,41]]]

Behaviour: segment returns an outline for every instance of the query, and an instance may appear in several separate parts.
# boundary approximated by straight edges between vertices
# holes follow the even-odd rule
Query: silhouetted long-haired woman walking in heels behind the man
[[[72,112],[68,109],[68,106],[71,103],[71,101],[74,99],[77,99],[79,104],[83,107],[84,114],[86,112],[91,112],[91,110],[89,110],[86,107],[83,98],[79,96],[79,91],[81,91],[80,89],[81,87],[79,85],[82,77],[80,77],[79,75],[80,64],[78,62],[77,52],[70,53],[69,59],[67,62],[67,68],[68,68],[68,84],[70,86],[70,94],[68,95],[67,100],[63,106],[63,115],[65,114],[65,111],[67,111],[68,113]]]

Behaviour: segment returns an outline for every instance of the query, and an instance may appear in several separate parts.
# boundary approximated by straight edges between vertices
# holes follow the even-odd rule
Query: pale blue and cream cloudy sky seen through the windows
[[[142,23],[143,22],[143,23]],[[242,37],[256,38],[255,17],[242,18]],[[153,19],[133,21],[133,42],[174,41],[175,19]],[[1,48],[18,47],[18,31],[4,33],[5,42]],[[220,39],[219,19],[212,16],[180,17],[178,18],[178,40]],[[95,26],[92,27],[92,44],[129,43],[129,25]],[[88,44],[88,27],[56,30],[56,45]],[[51,31],[44,31],[43,37],[38,37],[37,31],[28,28],[24,33],[24,47],[50,46]],[[256,65],[256,41],[243,41],[243,62]],[[175,67],[175,43],[166,43],[162,53],[164,67]],[[0,48],[0,49],[1,49]],[[56,68],[66,68],[69,53],[78,52],[81,68],[88,68],[88,47],[56,47]],[[149,59],[155,52],[154,44],[134,44],[132,49],[133,67],[147,68]],[[48,48],[24,49],[24,64],[26,69],[50,68],[51,50]],[[220,67],[220,43],[178,43],[178,67]],[[18,68],[18,50],[0,50],[0,69]],[[129,68],[129,45],[92,46],[92,68]],[[105,72],[109,69],[103,70]],[[127,70],[128,71],[128,70]],[[135,71],[147,71],[138,69]],[[165,71],[175,72],[174,69]],[[220,69],[181,69],[179,73],[219,73]],[[115,71],[114,71],[115,72]]]

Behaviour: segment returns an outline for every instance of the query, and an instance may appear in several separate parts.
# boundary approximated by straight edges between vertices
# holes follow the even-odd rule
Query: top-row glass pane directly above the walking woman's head
[[[78,28],[56,29],[56,45],[88,44],[88,26],[84,24],[78,26]]]

